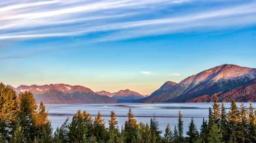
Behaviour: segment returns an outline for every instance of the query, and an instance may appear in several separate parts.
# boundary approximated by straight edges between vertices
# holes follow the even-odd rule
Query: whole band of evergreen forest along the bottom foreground
[[[173,131],[169,124],[159,130],[157,119],[137,123],[129,109],[127,120],[120,128],[113,111],[108,128],[100,112],[92,118],[86,111],[77,111],[71,123],[69,118],[53,132],[44,104],[38,106],[30,91],[15,91],[0,84],[0,143],[256,143],[256,110],[243,103],[238,108],[232,99],[230,110],[218,103],[215,94],[208,120],[203,119],[197,130],[193,118],[184,132],[182,113]],[[187,136],[184,136],[184,133]]]

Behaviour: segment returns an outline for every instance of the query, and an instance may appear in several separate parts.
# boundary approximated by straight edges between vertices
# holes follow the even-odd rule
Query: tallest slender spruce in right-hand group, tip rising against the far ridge
[[[213,110],[213,116],[209,114],[209,116],[211,116],[210,118],[213,120],[213,122],[219,127],[220,126],[220,104],[218,104],[218,97],[216,94],[214,94],[214,104],[212,105],[212,110]],[[209,119],[210,120],[210,119]]]

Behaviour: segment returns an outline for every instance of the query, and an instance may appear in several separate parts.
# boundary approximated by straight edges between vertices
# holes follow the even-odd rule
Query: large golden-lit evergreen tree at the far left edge
[[[15,91],[9,86],[0,83],[0,139],[10,140],[10,134],[14,129],[15,116],[18,103]]]

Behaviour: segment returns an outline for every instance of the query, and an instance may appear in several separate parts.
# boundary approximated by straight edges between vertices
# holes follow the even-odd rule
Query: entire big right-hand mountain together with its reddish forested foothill
[[[255,82],[253,81],[255,78],[255,68],[223,64],[189,76],[178,84],[168,86],[169,89],[161,90],[161,86],[150,96],[133,102],[209,102],[211,100],[206,100],[207,97],[215,93],[218,93],[218,96],[221,97],[220,99],[228,102],[231,100],[231,94],[240,92],[240,90],[241,92],[243,90],[244,94],[238,95],[239,101],[255,101],[255,98],[253,98],[256,91]],[[163,85],[164,87],[165,84]],[[248,89],[252,91],[247,95]],[[205,99],[201,96],[204,96]],[[226,96],[229,96],[229,98]]]

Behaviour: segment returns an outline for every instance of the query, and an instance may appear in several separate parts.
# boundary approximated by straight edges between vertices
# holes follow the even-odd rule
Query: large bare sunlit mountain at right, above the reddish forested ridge
[[[133,102],[186,102],[202,95],[233,89],[256,77],[256,69],[223,64],[187,77],[167,91]]]

